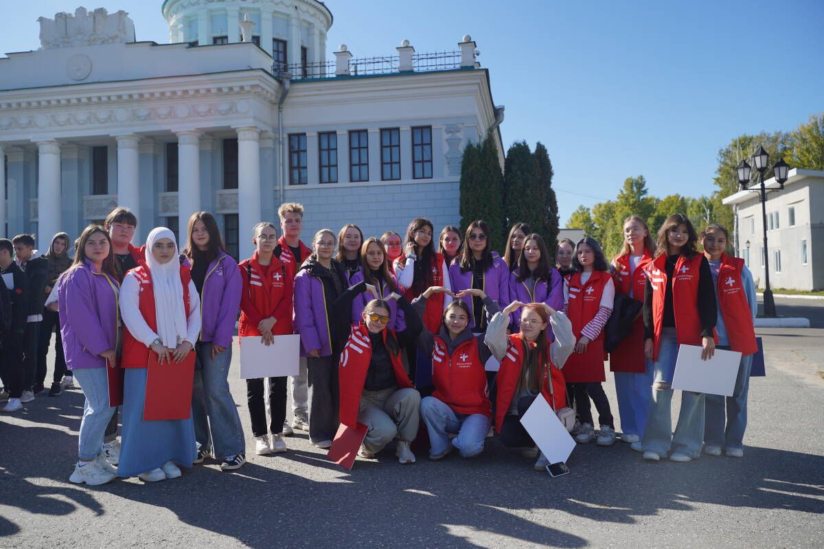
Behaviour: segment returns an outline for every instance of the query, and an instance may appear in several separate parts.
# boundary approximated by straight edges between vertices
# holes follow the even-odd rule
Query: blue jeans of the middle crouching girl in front
[[[464,458],[471,458],[484,451],[489,417],[484,414],[456,414],[452,408],[434,397],[420,401],[420,415],[429,431],[430,455],[443,454],[449,448],[449,435],[457,435],[451,444]]]

